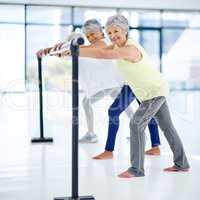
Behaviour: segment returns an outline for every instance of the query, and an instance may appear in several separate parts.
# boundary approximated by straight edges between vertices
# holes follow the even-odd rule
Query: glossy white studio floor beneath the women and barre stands
[[[82,95],[80,95],[80,99]],[[71,194],[71,94],[45,93],[45,134],[53,144],[31,144],[39,134],[37,93],[6,94],[0,97],[0,200],[52,200]],[[200,94],[174,92],[169,98],[171,113],[185,145],[192,170],[164,173],[172,155],[161,134],[162,155],[146,156],[146,176],[122,180],[117,174],[129,167],[128,119],[122,114],[115,156],[109,161],[91,157],[104,149],[107,132],[105,98],[94,105],[97,144],[79,148],[80,195],[93,194],[97,200],[198,200],[200,184]],[[132,105],[134,108],[136,104]],[[86,131],[80,107],[80,136]],[[146,131],[146,148],[150,147]]]

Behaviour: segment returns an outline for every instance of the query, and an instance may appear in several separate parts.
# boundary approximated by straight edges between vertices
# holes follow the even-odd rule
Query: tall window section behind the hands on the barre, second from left
[[[38,68],[36,52],[64,41],[72,31],[72,8],[53,6],[27,7],[27,87],[37,90]],[[71,76],[67,62],[55,57],[43,58],[44,89],[64,90],[67,76]]]

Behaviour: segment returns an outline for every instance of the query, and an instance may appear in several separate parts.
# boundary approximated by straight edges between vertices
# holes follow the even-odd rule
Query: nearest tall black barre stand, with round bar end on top
[[[79,85],[78,85],[78,56],[79,45],[84,39],[78,37],[72,40],[70,50],[72,54],[72,196],[56,197],[54,200],[95,200],[93,196],[79,196],[78,194],[78,133],[79,133]]]

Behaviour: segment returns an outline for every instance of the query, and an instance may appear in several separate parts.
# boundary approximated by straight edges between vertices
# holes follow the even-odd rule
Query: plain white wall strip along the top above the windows
[[[200,10],[200,0],[0,0],[0,3]]]

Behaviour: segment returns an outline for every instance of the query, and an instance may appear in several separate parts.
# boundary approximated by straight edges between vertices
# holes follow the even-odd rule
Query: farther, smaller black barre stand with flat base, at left
[[[40,117],[40,137],[33,138],[32,143],[47,143],[53,142],[53,138],[44,137],[44,123],[43,123],[43,94],[42,94],[42,58],[38,57],[38,85],[39,85],[39,117]]]

